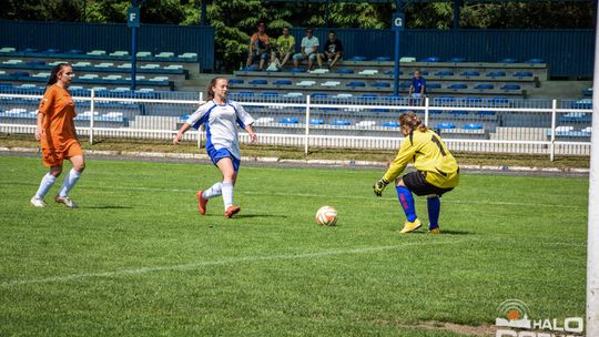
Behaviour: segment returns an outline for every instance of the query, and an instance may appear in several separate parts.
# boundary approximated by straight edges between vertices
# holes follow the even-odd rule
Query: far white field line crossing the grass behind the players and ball
[[[0,181],[1,185],[13,185],[12,181]],[[37,183],[19,183],[19,185],[35,185]],[[142,187],[142,186],[94,186],[93,190],[104,190],[104,191],[148,191],[148,192],[176,192],[176,193],[195,193],[197,190],[193,188],[166,188],[166,187]],[[314,197],[322,198],[328,197],[329,195],[323,194],[313,194],[313,193],[283,193],[283,192],[252,192],[252,191],[235,191],[235,194],[242,195],[267,195],[267,196],[288,196],[288,197]],[[335,195],[334,198],[344,198],[344,200],[374,200],[375,196],[363,196],[363,195]],[[380,201],[395,201],[396,197],[378,197]],[[552,208],[587,208],[587,206],[576,206],[576,205],[566,205],[566,204],[545,204],[545,203],[521,203],[521,202],[491,202],[491,201],[475,201],[475,200],[443,200],[444,204],[459,204],[459,205],[495,205],[495,206],[522,206],[522,207],[552,207]]]

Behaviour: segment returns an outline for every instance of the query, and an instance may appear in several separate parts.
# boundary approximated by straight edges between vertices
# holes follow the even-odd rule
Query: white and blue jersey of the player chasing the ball
[[[241,159],[235,124],[245,129],[245,125],[254,123],[254,119],[235,101],[227,100],[226,104],[220,105],[212,100],[200,105],[186,123],[194,129],[202,124],[206,126],[206,150],[211,146],[215,150],[224,147],[233,156]]]

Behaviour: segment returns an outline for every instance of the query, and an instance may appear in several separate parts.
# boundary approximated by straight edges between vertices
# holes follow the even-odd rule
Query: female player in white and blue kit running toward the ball
[[[240,170],[240,143],[237,129],[240,125],[250,134],[252,143],[257,142],[257,135],[252,124],[254,119],[243,106],[226,98],[229,93],[229,80],[223,76],[212,79],[207,86],[207,101],[200,105],[195,112],[183,123],[173,139],[173,144],[179,144],[183,134],[191,127],[199,129],[202,124],[206,129],[206,152],[216,167],[223,174],[222,182],[196,194],[197,208],[201,214],[206,213],[206,204],[210,198],[222,195],[224,202],[224,216],[233,217],[241,211],[240,206],[233,205],[233,186]]]

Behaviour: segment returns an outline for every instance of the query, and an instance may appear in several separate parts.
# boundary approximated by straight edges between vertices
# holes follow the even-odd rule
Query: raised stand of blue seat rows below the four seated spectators
[[[241,70],[234,73],[235,81],[231,82],[231,89],[233,92],[252,90],[255,93],[270,91],[285,94],[293,88],[301,86],[304,93],[311,94],[321,92],[336,94],[347,91],[354,94],[392,94],[394,63],[382,61],[384,58],[378,59],[380,61],[364,61],[364,59],[351,58],[341,61],[339,69],[333,72],[328,70],[306,72],[305,69],[284,69],[280,72]],[[463,58],[441,62],[434,57],[426,58],[423,62],[404,60],[409,62],[400,64],[399,89],[403,94],[409,88],[414,70],[420,70],[426,76],[427,92],[430,96],[453,94],[527,98],[549,78],[549,68],[546,63],[480,63],[466,62]],[[266,83],[251,84],[250,81],[257,76]]]

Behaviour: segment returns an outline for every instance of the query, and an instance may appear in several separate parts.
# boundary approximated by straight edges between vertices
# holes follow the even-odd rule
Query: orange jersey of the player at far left
[[[49,86],[43,94],[39,112],[43,114],[42,130],[45,135],[40,140],[42,149],[62,151],[77,142],[74,132],[74,111],[71,93],[57,84]]]

